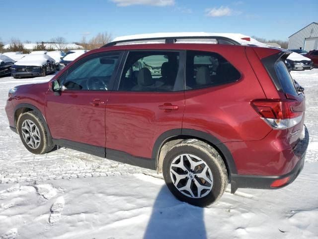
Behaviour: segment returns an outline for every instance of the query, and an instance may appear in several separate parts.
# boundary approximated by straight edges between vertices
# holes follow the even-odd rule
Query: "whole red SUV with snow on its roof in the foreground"
[[[304,93],[284,64],[290,51],[191,38],[111,42],[49,83],[17,86],[5,107],[10,128],[32,153],[60,145],[162,172],[197,206],[228,183],[232,193],[291,183],[309,134]]]

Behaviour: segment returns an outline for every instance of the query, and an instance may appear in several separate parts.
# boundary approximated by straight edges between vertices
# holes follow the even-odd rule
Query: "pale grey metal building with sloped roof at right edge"
[[[318,23],[313,22],[288,37],[288,49],[318,49]]]

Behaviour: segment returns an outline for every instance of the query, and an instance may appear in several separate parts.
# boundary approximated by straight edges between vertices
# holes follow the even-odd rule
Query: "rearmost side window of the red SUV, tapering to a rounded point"
[[[239,71],[221,55],[187,51],[186,90],[236,82],[239,78]]]

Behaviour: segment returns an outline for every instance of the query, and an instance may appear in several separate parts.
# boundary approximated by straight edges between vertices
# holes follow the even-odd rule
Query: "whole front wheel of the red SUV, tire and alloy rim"
[[[17,125],[22,143],[31,153],[43,154],[53,149],[44,123],[35,111],[22,114]]]

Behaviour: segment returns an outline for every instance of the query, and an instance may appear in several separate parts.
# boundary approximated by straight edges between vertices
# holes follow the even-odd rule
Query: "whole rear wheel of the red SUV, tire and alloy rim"
[[[218,151],[196,139],[173,146],[162,172],[171,193],[183,202],[204,207],[216,202],[228,185],[228,174]]]

